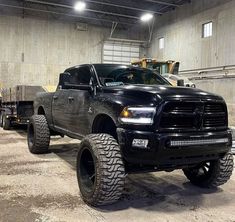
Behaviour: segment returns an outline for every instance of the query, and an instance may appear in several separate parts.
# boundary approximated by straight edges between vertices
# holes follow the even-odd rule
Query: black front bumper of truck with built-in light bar
[[[151,165],[163,169],[181,168],[186,165],[195,165],[207,160],[218,159],[227,153],[232,146],[232,133],[230,130],[197,133],[157,133],[118,128],[117,134],[124,160],[128,164]],[[133,147],[132,142],[134,139],[148,140],[147,148]],[[197,140],[201,142],[197,143]],[[172,143],[172,141],[178,143]],[[179,143],[183,141],[186,141],[186,143]],[[193,141],[193,143],[190,141]],[[205,144],[202,141],[205,141]],[[187,143],[190,145],[187,145]],[[174,144],[174,146],[171,146],[171,144]]]

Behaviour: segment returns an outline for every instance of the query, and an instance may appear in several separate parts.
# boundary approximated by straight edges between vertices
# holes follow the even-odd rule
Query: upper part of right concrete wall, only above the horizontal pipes
[[[213,22],[213,36],[202,38],[202,24]],[[159,38],[165,48],[159,50]],[[156,19],[149,55],[181,62],[181,70],[235,65],[235,1],[192,0]]]

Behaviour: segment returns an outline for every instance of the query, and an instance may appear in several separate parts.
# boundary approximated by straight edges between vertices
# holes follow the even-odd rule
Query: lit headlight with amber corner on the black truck
[[[125,124],[152,125],[155,113],[154,107],[126,107],[121,112],[119,120]]]

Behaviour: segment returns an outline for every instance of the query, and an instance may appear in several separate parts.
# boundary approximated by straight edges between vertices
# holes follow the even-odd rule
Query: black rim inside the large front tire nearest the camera
[[[91,151],[88,148],[84,148],[81,152],[81,157],[79,161],[79,180],[87,193],[94,190],[96,172],[95,172],[95,162]]]

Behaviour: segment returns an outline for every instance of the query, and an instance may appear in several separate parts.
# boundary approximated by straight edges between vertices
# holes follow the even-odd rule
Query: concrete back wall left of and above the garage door
[[[109,35],[110,29],[97,26],[78,31],[72,22],[0,16],[0,88],[56,85],[65,68],[101,62]],[[141,38],[125,30],[116,30],[113,37]]]

